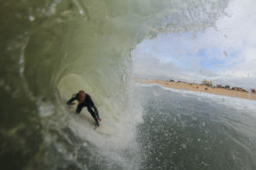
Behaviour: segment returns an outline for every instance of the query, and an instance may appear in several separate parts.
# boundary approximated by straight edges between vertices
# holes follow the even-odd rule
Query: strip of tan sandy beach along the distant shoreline
[[[187,83],[187,82],[170,82],[170,81],[164,81],[164,80],[158,80],[158,79],[135,78],[134,80],[136,83],[158,84],[163,87],[173,88],[178,90],[189,90],[189,91],[210,93],[215,95],[230,96],[235,98],[243,98],[248,100],[256,100],[255,93],[235,91],[235,90],[225,89],[225,88],[208,87],[205,85],[193,84],[193,83]]]

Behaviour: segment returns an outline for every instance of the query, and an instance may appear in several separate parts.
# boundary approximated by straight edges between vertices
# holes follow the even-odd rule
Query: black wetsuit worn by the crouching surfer
[[[66,105],[71,105],[72,101],[74,101],[74,100],[78,100],[78,93],[75,94],[71,99],[69,99],[66,102]],[[76,113],[79,114],[83,107],[87,107],[87,111],[90,113],[91,117],[94,119],[96,126],[99,126],[99,123],[98,123],[98,118],[99,118],[98,117],[98,110],[95,107],[94,103],[92,102],[90,96],[88,94],[86,94],[86,93],[85,93],[84,101],[77,105]],[[92,108],[93,108],[94,112],[93,112]]]

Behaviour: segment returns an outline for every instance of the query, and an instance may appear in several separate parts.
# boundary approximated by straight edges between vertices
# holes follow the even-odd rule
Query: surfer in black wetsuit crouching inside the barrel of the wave
[[[79,114],[83,107],[87,107],[87,111],[90,113],[91,117],[95,121],[95,127],[99,127],[98,121],[100,122],[101,119],[98,116],[98,110],[92,102],[90,96],[86,94],[83,90],[80,90],[77,94],[73,95],[73,97],[66,102],[66,105],[75,105],[75,103],[72,103],[74,100],[78,101],[78,105],[76,107],[76,114]],[[94,111],[92,110],[92,108]]]

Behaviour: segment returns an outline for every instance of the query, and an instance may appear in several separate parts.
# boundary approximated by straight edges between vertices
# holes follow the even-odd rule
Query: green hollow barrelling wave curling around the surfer
[[[6,166],[139,169],[136,125],[142,118],[131,86],[131,50],[160,33],[197,32],[214,26],[224,15],[227,1],[2,4],[7,25],[1,32],[6,40],[1,42],[5,49],[1,52],[1,101],[6,104],[1,138],[2,145],[15,139],[20,143],[9,142],[3,149],[1,157],[19,153],[17,164],[7,161]],[[80,119],[73,115],[74,108],[66,108],[66,100],[81,89],[90,94],[106,127],[115,134],[93,130],[84,109]],[[12,108],[10,101],[17,107]],[[11,109],[17,113],[13,117]],[[13,118],[21,119],[8,125]],[[21,158],[24,155],[27,158]]]

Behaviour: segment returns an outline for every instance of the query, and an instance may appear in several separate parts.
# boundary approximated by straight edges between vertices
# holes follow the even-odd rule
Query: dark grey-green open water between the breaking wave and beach
[[[144,98],[142,169],[255,169],[255,101],[137,88]]]

